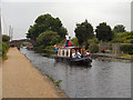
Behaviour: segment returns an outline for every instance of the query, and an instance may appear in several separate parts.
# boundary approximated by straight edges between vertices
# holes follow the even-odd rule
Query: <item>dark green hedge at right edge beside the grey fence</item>
[[[124,53],[133,54],[133,44],[122,44],[120,50]]]

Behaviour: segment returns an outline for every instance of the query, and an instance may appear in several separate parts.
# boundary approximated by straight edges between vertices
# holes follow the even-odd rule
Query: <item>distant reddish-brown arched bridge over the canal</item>
[[[22,40],[12,40],[10,44],[14,44],[17,47],[20,47],[22,42],[30,42],[32,44],[35,44],[37,42],[34,40],[28,40],[28,39],[22,39]]]

